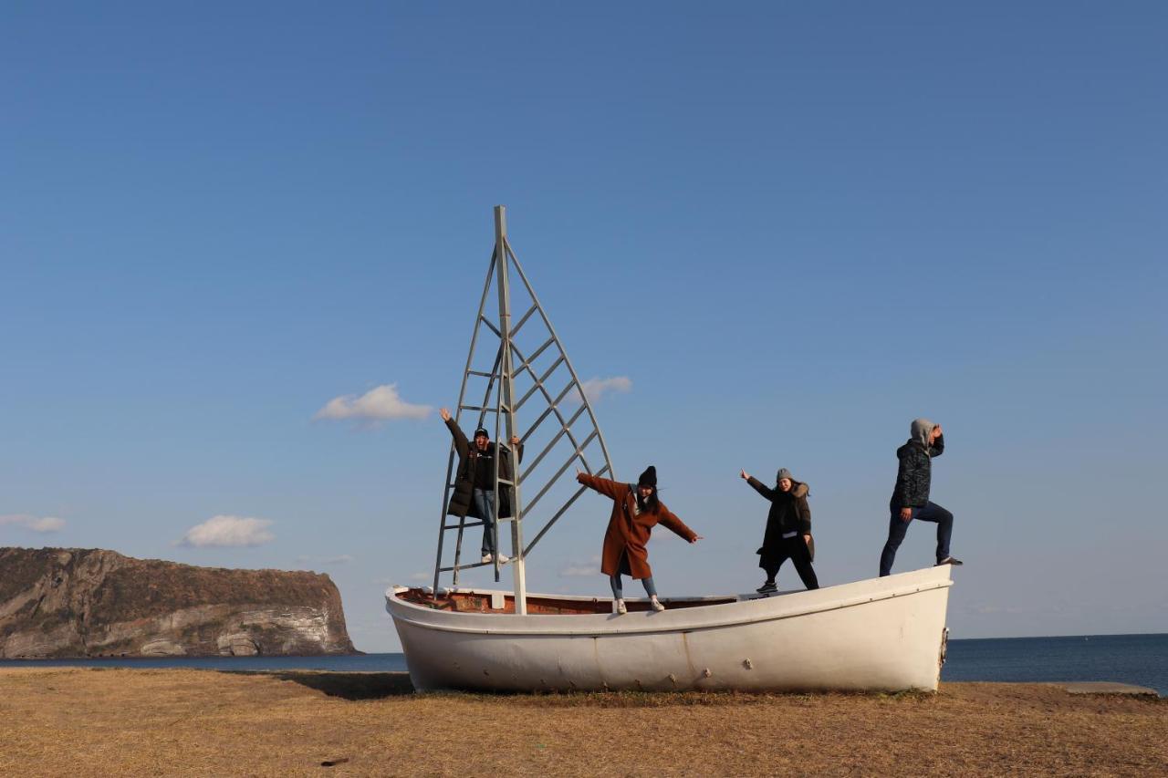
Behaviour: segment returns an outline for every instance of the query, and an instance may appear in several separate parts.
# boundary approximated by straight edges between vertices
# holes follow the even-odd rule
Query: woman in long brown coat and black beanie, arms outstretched
[[[604,533],[600,572],[609,576],[612,584],[617,612],[627,612],[620,585],[621,574],[633,579],[640,578],[645,584],[645,593],[649,596],[649,605],[654,611],[663,611],[665,605],[658,602],[653,570],[649,568],[648,551],[645,549],[653,527],[659,523],[665,525],[690,543],[696,543],[702,537],[658,500],[656,468],[649,465],[637,479],[635,487],[632,484],[618,484],[588,473],[576,473],[576,480],[612,498],[612,516],[609,517],[609,529]]]

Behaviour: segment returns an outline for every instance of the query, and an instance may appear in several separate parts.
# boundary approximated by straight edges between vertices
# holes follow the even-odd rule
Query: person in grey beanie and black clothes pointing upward
[[[787,560],[795,565],[799,578],[807,589],[819,589],[819,578],[811,567],[811,507],[807,505],[807,485],[791,477],[786,467],[774,477],[774,488],[765,486],[760,480],[742,471],[742,478],[756,492],[771,501],[766,514],[766,534],[763,535],[763,547],[758,549],[758,567],[766,571],[766,581],[758,588],[758,593],[770,595],[778,591],[774,576]]]

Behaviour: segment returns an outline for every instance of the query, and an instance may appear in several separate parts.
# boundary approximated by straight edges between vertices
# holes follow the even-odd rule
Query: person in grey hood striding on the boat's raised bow
[[[953,535],[953,514],[929,501],[933,457],[940,457],[944,452],[945,436],[941,425],[933,424],[927,418],[913,419],[909,426],[909,442],[896,450],[896,458],[901,464],[896,472],[896,487],[888,502],[888,541],[880,555],[881,577],[892,572],[896,549],[901,548],[901,541],[913,519],[937,525],[937,564],[961,564],[948,551]]]

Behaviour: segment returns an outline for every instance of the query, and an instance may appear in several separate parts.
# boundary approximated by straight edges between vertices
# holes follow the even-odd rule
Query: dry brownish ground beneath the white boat
[[[0,774],[1168,774],[1168,700],[1015,683],[415,695],[403,680],[0,669]]]

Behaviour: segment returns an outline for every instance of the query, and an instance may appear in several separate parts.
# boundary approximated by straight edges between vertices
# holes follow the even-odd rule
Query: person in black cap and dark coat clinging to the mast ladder
[[[443,408],[438,414],[453,436],[454,450],[458,451],[454,492],[450,496],[446,513],[459,519],[472,516],[482,521],[482,563],[489,564],[494,562],[496,553],[495,517],[501,515],[506,519],[512,515],[513,489],[506,484],[499,489],[499,510],[495,512],[495,459],[499,460],[499,478],[514,482],[510,449],[492,443],[489,433],[481,426],[474,431],[472,444],[451,418],[449,410]],[[512,445],[515,446],[519,461],[523,461],[523,444],[519,437],[512,437]],[[499,554],[500,564],[509,561],[510,557],[506,554]]]

